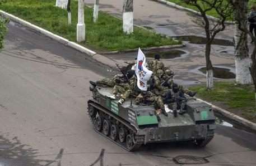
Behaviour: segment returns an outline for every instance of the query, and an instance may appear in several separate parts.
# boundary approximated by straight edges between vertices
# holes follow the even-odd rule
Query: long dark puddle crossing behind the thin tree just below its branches
[[[206,38],[201,36],[175,36],[176,40],[189,41],[192,44],[196,45],[205,45]],[[220,45],[220,46],[234,46],[233,42],[224,39],[214,39],[212,41],[212,45]]]

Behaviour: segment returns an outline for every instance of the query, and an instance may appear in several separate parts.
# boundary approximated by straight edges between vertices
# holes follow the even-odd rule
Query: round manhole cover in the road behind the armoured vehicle
[[[204,164],[208,163],[207,159],[202,157],[196,157],[191,155],[178,155],[177,157],[173,158],[174,162],[178,164]]]

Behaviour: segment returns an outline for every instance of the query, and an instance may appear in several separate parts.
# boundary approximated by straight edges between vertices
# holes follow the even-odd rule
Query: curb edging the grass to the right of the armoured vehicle
[[[201,101],[208,105],[211,105],[213,110],[215,111],[215,113],[222,115],[222,116],[226,117],[227,119],[234,121],[236,124],[239,124],[239,125],[243,126],[244,128],[248,128],[249,131],[253,131],[254,133],[256,133],[256,123],[253,123],[252,121],[246,120],[244,118],[241,118],[238,115],[230,113],[229,111],[224,110],[216,105],[213,105],[210,102],[207,102],[207,101],[204,101],[204,100],[198,99],[198,98],[196,98],[196,99],[198,101]]]

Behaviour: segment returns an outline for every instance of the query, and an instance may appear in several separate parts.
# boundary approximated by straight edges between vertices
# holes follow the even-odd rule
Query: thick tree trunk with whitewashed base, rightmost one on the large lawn
[[[123,31],[133,33],[133,0],[123,0]]]

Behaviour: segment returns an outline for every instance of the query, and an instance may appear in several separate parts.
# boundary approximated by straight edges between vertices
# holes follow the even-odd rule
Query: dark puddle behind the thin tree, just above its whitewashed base
[[[206,74],[206,67],[202,67],[198,69],[199,71]],[[213,67],[213,77],[217,79],[235,79],[235,74],[230,71],[230,69],[221,68],[221,67]]]

